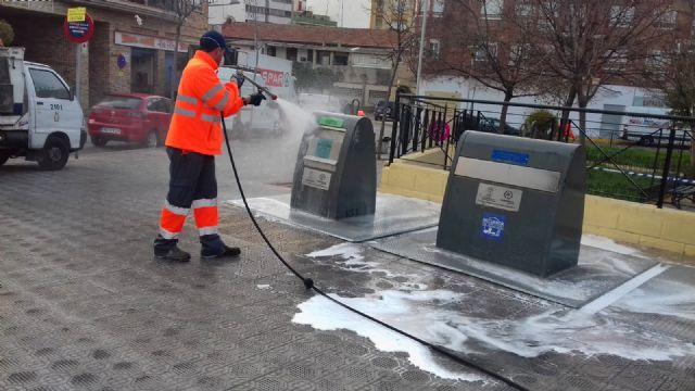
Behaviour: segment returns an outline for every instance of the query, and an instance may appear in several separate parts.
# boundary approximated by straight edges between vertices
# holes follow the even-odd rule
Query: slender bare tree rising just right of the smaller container
[[[415,0],[382,0],[378,3],[378,17],[384,26],[388,26],[388,28],[393,31],[394,35],[391,42],[391,49],[384,55],[391,63],[391,76],[389,78],[389,86],[387,89],[387,99],[391,99],[391,91],[399,73],[399,67],[416,40],[414,28],[416,13],[415,5]],[[381,121],[379,142],[383,139],[384,127],[386,116]]]

